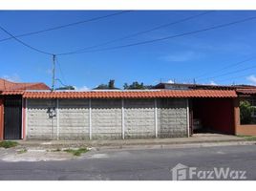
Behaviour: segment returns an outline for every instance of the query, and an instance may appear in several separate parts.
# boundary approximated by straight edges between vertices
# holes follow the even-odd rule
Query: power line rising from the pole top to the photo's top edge
[[[75,52],[70,52],[70,53],[79,53],[79,52],[82,52],[82,51],[85,51],[85,50],[94,49],[94,48],[101,47],[101,46],[108,45],[108,44],[112,44],[114,42],[118,42],[118,41],[121,41],[121,40],[124,40],[124,39],[135,37],[135,36],[138,36],[138,35],[143,34],[143,33],[154,32],[154,31],[160,30],[162,28],[170,27],[172,25],[176,25],[176,24],[179,24],[179,23],[182,23],[182,22],[194,19],[196,17],[203,16],[203,15],[211,13],[211,12],[213,12],[213,11],[203,11],[202,13],[195,14],[195,15],[192,15],[192,16],[189,16],[189,17],[185,17],[185,18],[182,18],[182,19],[180,19],[178,21],[174,21],[174,22],[170,22],[170,23],[167,23],[167,24],[163,24],[163,25],[160,25],[160,26],[157,26],[157,27],[154,27],[152,29],[145,30],[145,31],[142,31],[142,32],[135,32],[135,33],[132,33],[132,34],[129,34],[129,35],[126,35],[126,36],[123,36],[123,37],[120,37],[120,38],[117,38],[117,39],[114,39],[114,40],[110,40],[110,41],[107,41],[107,42],[104,42],[104,43],[100,43],[100,44],[96,44],[96,45],[93,45],[93,46],[89,46],[89,47],[86,47],[86,48],[83,48],[83,49],[79,49],[79,50],[76,50]]]

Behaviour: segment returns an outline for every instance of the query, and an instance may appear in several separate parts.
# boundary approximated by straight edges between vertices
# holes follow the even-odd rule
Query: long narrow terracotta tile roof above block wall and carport
[[[236,97],[232,90],[187,91],[92,91],[92,92],[25,92],[25,98],[154,98],[154,97]]]

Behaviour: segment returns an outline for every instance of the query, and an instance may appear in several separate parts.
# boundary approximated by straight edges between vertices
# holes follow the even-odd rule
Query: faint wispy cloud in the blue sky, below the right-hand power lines
[[[202,58],[202,53],[195,53],[192,51],[181,52],[181,53],[171,53],[165,56],[161,56],[160,59],[167,62],[185,62],[188,60],[195,60]]]

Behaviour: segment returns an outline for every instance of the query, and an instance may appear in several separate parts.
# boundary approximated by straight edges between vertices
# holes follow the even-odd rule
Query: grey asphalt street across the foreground
[[[174,174],[171,169],[179,163],[185,172]],[[173,179],[256,180],[256,145],[90,151],[62,161],[0,160],[0,180]]]

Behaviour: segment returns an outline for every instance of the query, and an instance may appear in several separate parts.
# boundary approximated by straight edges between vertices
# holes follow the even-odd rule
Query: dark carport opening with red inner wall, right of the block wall
[[[231,98],[195,98],[190,103],[192,134],[234,134],[234,106]]]

